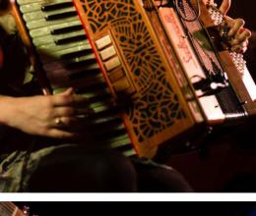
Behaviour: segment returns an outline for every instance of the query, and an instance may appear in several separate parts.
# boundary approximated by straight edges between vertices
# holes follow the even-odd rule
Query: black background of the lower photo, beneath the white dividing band
[[[15,202],[38,216],[204,215],[255,216],[254,202]],[[31,215],[32,215],[31,214]]]

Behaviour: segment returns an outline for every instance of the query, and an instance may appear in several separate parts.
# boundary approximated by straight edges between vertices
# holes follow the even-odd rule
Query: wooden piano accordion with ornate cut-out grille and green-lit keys
[[[73,86],[90,98],[97,138],[127,156],[151,158],[160,144],[256,113],[255,83],[242,55],[224,46],[212,1],[16,0],[12,8],[43,92]]]

